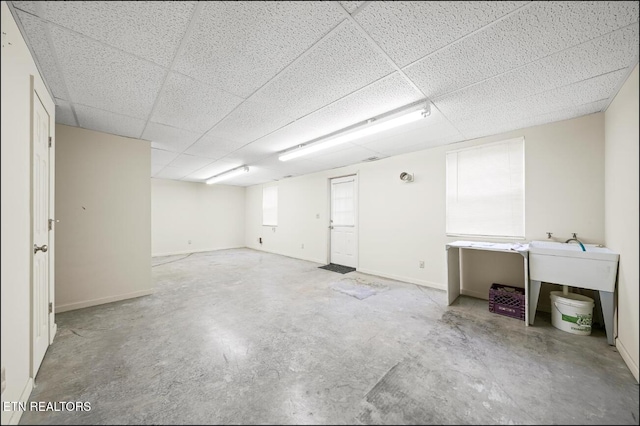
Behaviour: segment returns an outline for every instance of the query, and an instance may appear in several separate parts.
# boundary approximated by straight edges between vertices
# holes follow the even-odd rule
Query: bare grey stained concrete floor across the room
[[[155,258],[156,293],[57,315],[21,424],[638,424],[604,332],[250,249]]]

